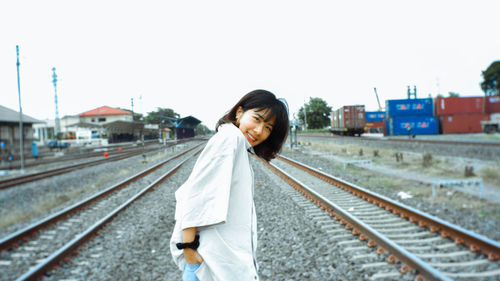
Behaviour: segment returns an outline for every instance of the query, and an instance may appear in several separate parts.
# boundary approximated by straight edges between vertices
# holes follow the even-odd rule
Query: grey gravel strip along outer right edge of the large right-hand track
[[[338,168],[338,163],[335,163],[326,158],[312,156],[307,153],[302,153],[297,150],[284,150],[283,155],[290,157],[294,160],[307,164],[311,167],[318,168],[325,173],[330,175],[342,178],[348,182],[359,183],[360,181],[368,181],[369,179],[360,177],[359,174],[350,175],[344,169]],[[372,175],[373,177],[384,177],[384,175]],[[392,180],[390,177],[387,177],[387,180]],[[477,211],[471,208],[456,208],[450,206],[447,203],[439,202],[437,200],[432,200],[432,198],[426,197],[413,197],[409,199],[401,199],[398,195],[400,191],[404,191],[408,186],[414,186],[416,188],[421,189],[430,189],[429,186],[411,182],[411,181],[403,181],[404,186],[401,186],[400,189],[395,190],[392,188],[388,188],[382,185],[370,185],[370,186],[362,186],[371,190],[373,192],[382,194],[386,197],[389,197],[393,200],[402,202],[406,205],[414,207],[423,212],[429,213],[433,216],[439,217],[443,220],[449,221],[453,224],[456,224],[462,228],[469,229],[473,232],[484,235],[490,239],[495,241],[500,241],[500,223],[489,216],[479,216],[477,215]],[[477,200],[476,200],[477,201]]]

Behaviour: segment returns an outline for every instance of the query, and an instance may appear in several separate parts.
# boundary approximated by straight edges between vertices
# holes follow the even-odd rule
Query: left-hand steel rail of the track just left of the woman
[[[16,246],[16,243],[17,241],[20,241],[20,240],[29,240],[29,237],[32,236],[32,235],[36,235],[36,232],[41,229],[41,228],[44,228],[44,227],[47,227],[61,219],[64,219],[65,217],[67,217],[68,215],[74,213],[74,212],[77,212],[78,210],[81,210],[83,209],[84,207],[86,207],[87,205],[89,205],[90,203],[112,193],[112,192],[115,192],[116,190],[122,188],[123,186],[129,184],[130,182],[133,182],[133,181],[136,181],[138,180],[139,178],[141,177],[144,177],[145,175],[153,172],[154,170],[160,168],[161,166],[163,166],[164,164],[166,164],[167,162],[173,160],[173,159],[176,159],[176,158],[179,158],[181,157],[182,155],[185,155],[186,153],[196,149],[197,147],[201,146],[202,144],[198,144],[190,149],[187,149],[186,151],[183,151],[177,155],[174,155],[158,164],[155,164],[154,166],[152,167],[149,167],[149,168],[146,168],[144,169],[143,171],[135,174],[135,175],[132,175],[126,179],[124,179],[123,181],[113,185],[113,186],[110,186],[108,188],[106,188],[105,190],[89,197],[89,198],[86,198],[80,202],[77,202],[71,206],[68,206],[67,208],[59,211],[59,212],[56,212],[34,224],[31,224],[23,229],[20,229],[10,235],[7,235],[6,237],[2,238],[0,240],[0,251],[2,250],[8,250],[10,247],[12,246]]]

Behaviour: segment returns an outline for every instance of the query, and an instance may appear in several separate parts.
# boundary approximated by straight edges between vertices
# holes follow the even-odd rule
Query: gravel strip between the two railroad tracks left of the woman
[[[0,237],[96,194],[103,188],[198,143],[199,141],[193,141],[176,148],[148,153],[146,161],[142,155],[134,156],[2,190]]]

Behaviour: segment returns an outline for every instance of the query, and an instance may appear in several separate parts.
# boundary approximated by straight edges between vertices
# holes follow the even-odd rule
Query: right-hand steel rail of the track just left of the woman
[[[201,150],[201,149],[200,149]],[[196,155],[197,153],[194,153],[191,157]],[[113,210],[111,213],[109,213],[107,216],[96,222],[94,225],[92,225],[90,228],[79,234],[77,237],[75,237],[73,240],[71,240],[69,243],[61,247],[59,250],[54,252],[52,255],[47,257],[42,263],[38,264],[35,266],[33,269],[30,271],[26,272],[22,276],[20,276],[16,281],[27,281],[27,280],[37,280],[38,277],[42,276],[47,272],[48,270],[52,269],[54,266],[56,266],[63,258],[72,255],[73,252],[83,243],[88,241],[91,237],[98,235],[98,231],[104,227],[108,222],[110,222],[115,216],[117,216],[121,211],[125,210],[128,206],[130,206],[134,201],[136,201],[138,198],[142,197],[146,192],[151,191],[156,187],[158,184],[162,183],[164,180],[169,178],[171,175],[173,175],[177,170],[188,160],[191,158],[187,158],[183,160],[181,163],[177,164],[174,168],[160,176],[158,179],[156,179],[153,183],[142,189],[139,193],[134,195],[132,198],[127,200],[125,203],[120,205],[118,208]]]

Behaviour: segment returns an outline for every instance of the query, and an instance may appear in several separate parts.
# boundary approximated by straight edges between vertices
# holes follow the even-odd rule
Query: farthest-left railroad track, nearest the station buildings
[[[25,183],[41,180],[44,178],[68,173],[68,172],[71,172],[71,171],[74,171],[77,169],[95,166],[95,165],[99,165],[99,164],[106,163],[106,162],[119,161],[122,159],[126,159],[129,157],[137,156],[137,155],[144,154],[144,153],[149,153],[149,152],[152,152],[152,151],[155,151],[158,149],[163,149],[163,148],[165,148],[165,147],[164,146],[148,147],[148,148],[144,148],[144,149],[138,148],[138,149],[130,150],[128,152],[121,152],[120,154],[116,154],[116,155],[109,156],[109,157],[102,158],[102,159],[97,159],[97,160],[93,159],[93,160],[89,160],[89,161],[78,163],[78,164],[63,166],[63,167],[54,168],[54,169],[50,169],[50,170],[46,170],[46,171],[42,171],[42,172],[37,172],[37,173],[26,174],[26,175],[14,177],[14,178],[3,179],[3,180],[0,180],[0,189],[15,187],[15,186],[18,186],[20,184],[25,184]],[[102,152],[99,152],[99,155],[102,155]],[[88,157],[93,157],[93,156],[94,155],[89,155],[89,156],[82,157],[82,158],[88,158]]]

